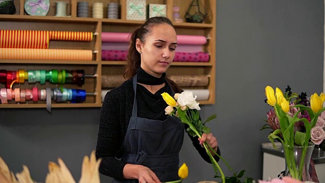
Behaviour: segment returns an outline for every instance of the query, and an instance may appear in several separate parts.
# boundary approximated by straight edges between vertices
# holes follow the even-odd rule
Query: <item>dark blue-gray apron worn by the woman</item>
[[[171,91],[171,86],[166,82]],[[164,121],[137,116],[137,75],[133,78],[134,103],[124,140],[122,161],[150,168],[161,182],[178,177],[179,151],[183,144],[184,125],[171,116]],[[172,93],[174,96],[174,93]],[[112,183],[137,183],[139,180],[117,180]]]

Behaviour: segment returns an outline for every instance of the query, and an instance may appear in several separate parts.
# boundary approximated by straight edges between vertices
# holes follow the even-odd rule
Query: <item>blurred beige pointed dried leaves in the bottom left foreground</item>
[[[49,162],[49,172],[46,175],[45,183],[76,183],[71,172],[63,160],[58,158],[58,164]],[[90,157],[84,156],[82,161],[81,177],[79,183],[100,183],[99,166],[101,159],[96,160],[95,151]],[[16,178],[17,177],[17,178]],[[0,157],[0,182],[1,183],[35,183],[31,178],[28,167],[23,165],[23,170],[15,174],[9,170],[8,165]]]

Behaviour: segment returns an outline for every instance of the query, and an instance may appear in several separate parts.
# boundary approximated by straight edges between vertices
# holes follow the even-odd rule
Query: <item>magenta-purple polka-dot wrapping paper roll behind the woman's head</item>
[[[121,50],[103,50],[102,60],[126,60],[127,51]],[[209,53],[196,52],[196,53],[184,53],[176,52],[174,62],[209,62]]]

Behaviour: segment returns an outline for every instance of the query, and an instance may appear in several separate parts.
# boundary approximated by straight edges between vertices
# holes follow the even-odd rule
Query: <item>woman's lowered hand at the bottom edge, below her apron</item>
[[[123,176],[126,179],[138,179],[139,183],[161,183],[157,175],[143,165],[126,164]]]

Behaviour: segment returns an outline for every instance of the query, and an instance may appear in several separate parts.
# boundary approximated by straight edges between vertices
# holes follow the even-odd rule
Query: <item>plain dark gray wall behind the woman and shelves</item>
[[[322,92],[323,1],[218,0],[216,45],[216,105],[202,106],[201,115],[217,114],[208,126],[234,171],[262,178],[261,143],[268,142],[268,131],[259,129],[270,109],[265,86]],[[99,110],[0,109],[0,156],[13,172],[27,165],[38,181],[45,180],[47,163],[61,157],[78,180],[83,156],[96,145]],[[183,182],[213,180],[211,165],[188,138],[181,162],[189,167]]]

